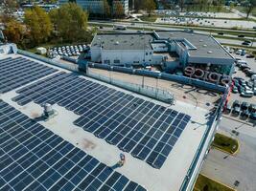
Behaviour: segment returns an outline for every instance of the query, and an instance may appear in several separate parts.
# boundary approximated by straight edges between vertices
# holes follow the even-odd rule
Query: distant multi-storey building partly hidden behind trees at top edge
[[[124,14],[128,15],[128,0],[107,0],[110,7],[113,7],[117,2],[121,2],[124,9]],[[105,8],[104,8],[104,0],[59,0],[59,5],[62,5],[64,3],[68,2],[76,2],[78,5],[82,7],[82,9],[89,11],[91,13],[95,14],[104,14]],[[114,9],[111,9],[114,10]]]

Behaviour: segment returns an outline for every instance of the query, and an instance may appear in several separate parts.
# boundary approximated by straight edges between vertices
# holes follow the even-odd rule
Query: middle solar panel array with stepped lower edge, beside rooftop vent
[[[85,80],[53,74],[18,91],[24,105],[57,103],[81,115],[74,124],[121,150],[161,168],[190,117],[175,110]]]

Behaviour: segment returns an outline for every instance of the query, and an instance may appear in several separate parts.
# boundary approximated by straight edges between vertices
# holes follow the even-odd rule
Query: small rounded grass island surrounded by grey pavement
[[[215,135],[212,145],[230,154],[235,153],[239,149],[239,143],[237,139],[229,138],[219,133]]]

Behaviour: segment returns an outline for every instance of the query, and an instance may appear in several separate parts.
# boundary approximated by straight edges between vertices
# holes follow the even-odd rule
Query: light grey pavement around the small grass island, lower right
[[[231,131],[239,132],[234,136]],[[239,191],[256,190],[256,128],[223,117],[219,132],[238,138],[240,151],[235,156],[212,149],[208,154],[201,173],[234,187],[235,180],[240,181]]]

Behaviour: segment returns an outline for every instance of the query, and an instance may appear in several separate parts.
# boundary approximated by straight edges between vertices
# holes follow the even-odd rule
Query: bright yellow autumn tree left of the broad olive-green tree
[[[25,11],[24,23],[35,45],[47,41],[53,30],[49,15],[39,7]]]

